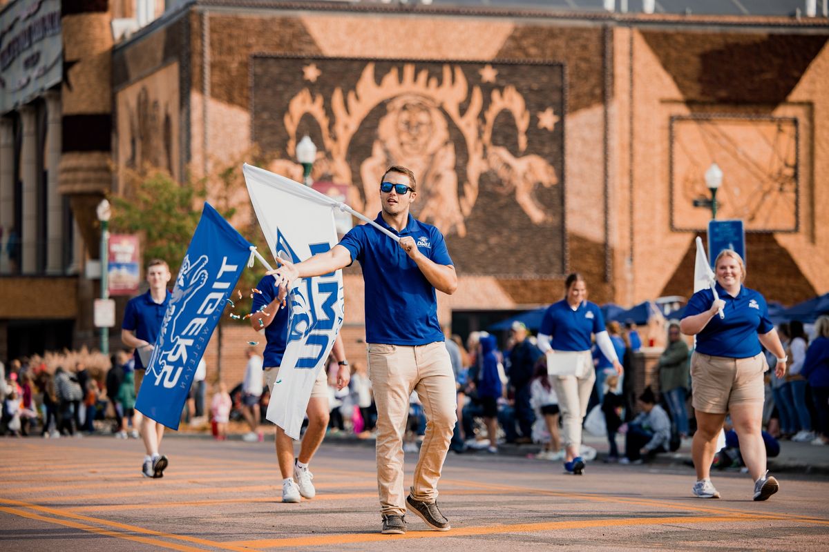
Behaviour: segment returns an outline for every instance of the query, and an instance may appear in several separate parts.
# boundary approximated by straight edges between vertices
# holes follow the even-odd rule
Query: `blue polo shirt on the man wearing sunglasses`
[[[409,215],[397,232],[378,214],[375,222],[400,237],[411,236],[421,253],[439,265],[453,265],[438,228]],[[351,228],[340,242],[359,261],[366,282],[366,342],[425,345],[444,341],[432,286],[403,248],[371,224]]]

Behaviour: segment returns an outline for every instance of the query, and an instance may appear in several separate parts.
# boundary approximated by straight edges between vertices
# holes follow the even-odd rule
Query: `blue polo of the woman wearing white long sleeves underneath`
[[[593,334],[604,332],[604,318],[599,305],[582,301],[576,310],[566,299],[547,307],[539,333],[550,336],[556,351],[589,351]]]

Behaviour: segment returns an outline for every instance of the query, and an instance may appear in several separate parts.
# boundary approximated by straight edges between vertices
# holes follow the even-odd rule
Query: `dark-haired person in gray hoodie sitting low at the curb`
[[[650,387],[639,396],[642,412],[628,424],[625,435],[625,458],[619,463],[642,463],[642,456],[652,457],[667,451],[671,441],[671,419]]]

